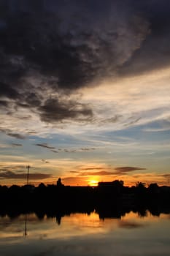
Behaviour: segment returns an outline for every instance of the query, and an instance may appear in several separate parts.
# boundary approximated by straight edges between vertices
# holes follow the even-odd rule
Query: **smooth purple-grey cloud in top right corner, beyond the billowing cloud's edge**
[[[120,70],[121,75],[134,75],[169,66],[170,56],[170,3],[168,0],[140,1],[138,10],[150,23],[150,34],[142,47]]]

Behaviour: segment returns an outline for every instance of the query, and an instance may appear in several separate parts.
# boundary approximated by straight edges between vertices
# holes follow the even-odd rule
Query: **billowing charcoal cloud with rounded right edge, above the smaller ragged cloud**
[[[6,67],[3,75],[9,69],[11,78],[19,79],[27,69],[34,69],[57,78],[62,89],[79,88],[121,65],[139,47],[141,34],[146,33],[141,23],[144,20],[133,23],[128,5],[124,10],[116,1],[99,4],[102,10],[93,1],[96,11],[85,1],[72,1],[72,6],[56,1],[43,7],[42,2],[36,12],[29,1],[15,1],[15,8],[10,1],[4,4],[6,15],[1,15],[0,34]],[[131,29],[131,33],[125,29]],[[131,35],[136,37],[132,39]],[[128,43],[128,53],[123,39]]]

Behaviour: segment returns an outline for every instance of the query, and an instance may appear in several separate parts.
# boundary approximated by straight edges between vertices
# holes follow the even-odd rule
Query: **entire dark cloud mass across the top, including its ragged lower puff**
[[[1,0],[0,105],[92,120],[77,89],[169,65],[169,12],[168,0]]]

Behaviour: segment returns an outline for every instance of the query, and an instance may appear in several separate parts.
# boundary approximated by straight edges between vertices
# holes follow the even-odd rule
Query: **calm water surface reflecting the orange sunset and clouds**
[[[40,220],[35,214],[0,218],[1,256],[170,255],[170,214],[121,219],[71,214]]]

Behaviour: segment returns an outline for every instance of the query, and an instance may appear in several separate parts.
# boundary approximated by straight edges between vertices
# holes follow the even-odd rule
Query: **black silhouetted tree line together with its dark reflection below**
[[[149,210],[159,215],[170,212],[170,187],[139,182],[134,187],[125,187],[123,181],[99,182],[98,187],[69,187],[58,179],[57,185],[39,184],[19,187],[0,186],[0,215],[16,217],[35,212],[39,219],[45,215],[61,217],[71,213],[96,211],[101,219],[120,218],[130,211],[144,216]]]

